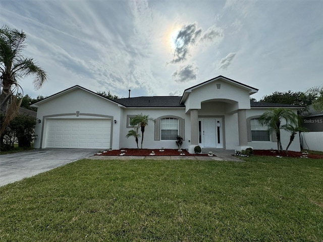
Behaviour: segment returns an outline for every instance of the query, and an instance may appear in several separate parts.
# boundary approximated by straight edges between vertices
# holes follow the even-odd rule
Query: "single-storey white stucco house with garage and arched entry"
[[[184,90],[182,96],[144,96],[109,100],[88,89],[74,86],[53,94],[32,106],[38,108],[35,148],[136,148],[126,138],[130,118],[138,113],[154,122],[145,128],[143,148],[182,148],[194,153],[206,149],[277,149],[276,137],[257,122],[271,107],[299,106],[250,102],[258,89],[219,76]],[[139,130],[140,132],[140,130]],[[289,134],[282,133],[286,147]],[[297,139],[289,150],[299,151]]]

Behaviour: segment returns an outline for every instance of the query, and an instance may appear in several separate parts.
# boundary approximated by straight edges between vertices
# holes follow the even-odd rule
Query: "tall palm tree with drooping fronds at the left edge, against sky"
[[[17,103],[18,89],[21,88],[18,82],[29,75],[34,75],[35,89],[39,89],[47,80],[47,73],[35,64],[33,58],[25,58],[22,55],[26,34],[17,29],[3,26],[0,29],[0,114],[6,115],[5,124],[9,124],[18,113],[20,102]],[[16,95],[15,95],[16,93]],[[11,99],[11,107],[9,101]],[[7,115],[7,112],[10,114]],[[4,128],[4,127],[3,127]],[[3,129],[2,129],[3,130]]]

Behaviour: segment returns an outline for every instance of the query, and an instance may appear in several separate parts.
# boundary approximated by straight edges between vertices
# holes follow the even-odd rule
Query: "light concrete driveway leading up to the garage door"
[[[87,158],[94,149],[36,149],[0,155],[0,186]]]

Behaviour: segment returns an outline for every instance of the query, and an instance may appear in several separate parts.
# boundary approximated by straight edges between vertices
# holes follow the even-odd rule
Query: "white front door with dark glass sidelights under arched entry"
[[[201,147],[223,148],[222,118],[199,119]]]

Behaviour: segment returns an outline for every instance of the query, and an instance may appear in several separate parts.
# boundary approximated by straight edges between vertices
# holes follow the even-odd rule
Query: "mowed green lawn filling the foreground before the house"
[[[1,241],[322,241],[323,161],[89,160],[0,188]]]

